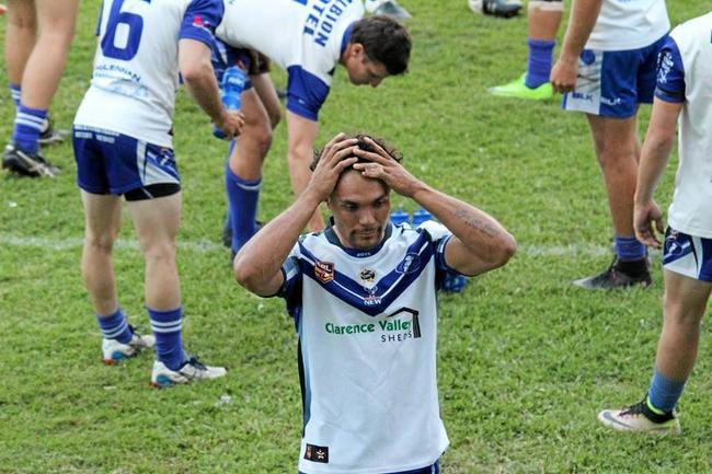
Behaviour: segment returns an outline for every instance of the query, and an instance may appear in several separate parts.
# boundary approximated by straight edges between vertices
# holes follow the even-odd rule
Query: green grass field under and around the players
[[[53,105],[64,127],[89,84],[99,3],[81,4]],[[646,290],[592,293],[570,284],[609,263],[612,233],[585,119],[563,113],[558,101],[486,93],[522,72],[526,19],[475,15],[464,0],[402,3],[414,14],[410,73],[372,90],[349,85],[337,71],[319,142],[341,130],[386,137],[414,174],[485,209],[519,243],[505,268],[440,298],[439,386],[451,439],[443,472],[712,472],[707,327],[681,403],[681,437],[625,436],[596,421],[599,409],[635,402],[646,390],[662,320],[659,255]],[[668,2],[674,24],[709,7]],[[9,137],[14,109],[7,89],[0,101],[0,136]],[[177,111],[184,339],[207,362],[231,370],[210,383],[157,391],[149,386],[151,356],[119,367],[100,362],[79,273],[83,217],[71,147],[51,148],[49,160],[64,170],[56,180],[0,176],[1,474],[296,472],[294,325],[280,300],[252,297],[233,282],[219,245],[226,147],[184,93]],[[641,132],[648,115],[644,107]],[[283,124],[266,164],[262,219],[291,199],[285,155]],[[665,206],[675,162],[658,192]],[[148,327],[128,218],[115,266],[124,309]]]

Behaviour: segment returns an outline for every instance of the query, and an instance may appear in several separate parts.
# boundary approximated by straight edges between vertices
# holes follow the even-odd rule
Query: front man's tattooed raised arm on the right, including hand
[[[356,150],[355,154],[371,163],[357,163],[354,169],[367,177],[382,180],[395,193],[412,198],[452,232],[445,248],[445,261],[450,267],[464,275],[478,275],[512,258],[517,243],[493,217],[416,180],[376,142],[369,141],[378,153]]]

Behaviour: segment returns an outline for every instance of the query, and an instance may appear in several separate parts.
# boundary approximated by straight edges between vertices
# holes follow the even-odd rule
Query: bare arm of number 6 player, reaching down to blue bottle
[[[220,91],[210,62],[210,49],[199,41],[179,42],[179,68],[186,89],[200,108],[228,137],[240,135],[244,120],[239,112],[227,111],[220,102]]]

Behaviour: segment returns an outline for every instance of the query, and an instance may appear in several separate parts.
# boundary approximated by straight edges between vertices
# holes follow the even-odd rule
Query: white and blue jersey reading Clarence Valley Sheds
[[[300,472],[411,471],[447,449],[436,289],[450,236],[429,221],[389,224],[367,252],[344,248],[332,228],[295,245],[279,296],[299,333]]]

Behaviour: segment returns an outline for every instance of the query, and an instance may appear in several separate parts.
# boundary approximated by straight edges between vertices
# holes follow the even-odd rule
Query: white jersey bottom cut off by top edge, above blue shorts
[[[604,0],[586,48],[640,49],[652,45],[669,30],[665,0]]]

